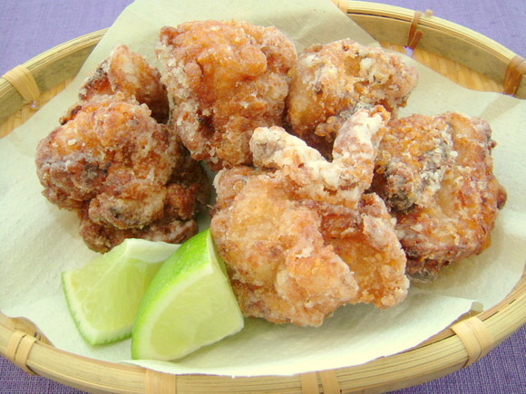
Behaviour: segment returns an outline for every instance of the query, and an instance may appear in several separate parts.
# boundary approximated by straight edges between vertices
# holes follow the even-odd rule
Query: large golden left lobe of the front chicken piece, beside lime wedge
[[[229,178],[243,171],[219,172],[219,206],[226,205],[221,200],[223,192],[229,194]],[[241,310],[270,322],[320,325],[356,297],[349,267],[324,241],[316,211],[289,198],[278,179],[262,173],[241,182],[239,194],[215,213],[210,227]]]

